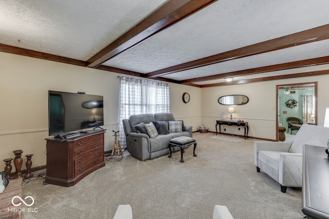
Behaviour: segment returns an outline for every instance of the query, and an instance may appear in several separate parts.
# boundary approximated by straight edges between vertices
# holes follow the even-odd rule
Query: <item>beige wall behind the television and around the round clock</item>
[[[112,150],[111,130],[118,130],[119,121],[119,74],[3,52],[0,60],[1,162],[13,158],[13,150],[22,149],[22,169],[26,169],[26,154],[34,154],[32,167],[46,164],[48,90],[103,95],[104,128],[109,130],[105,133],[105,150]],[[171,111],[187,125],[196,127],[200,121],[201,89],[171,84],[170,92]],[[189,104],[181,101],[183,92],[191,94]],[[3,167],[4,163],[0,169]]]

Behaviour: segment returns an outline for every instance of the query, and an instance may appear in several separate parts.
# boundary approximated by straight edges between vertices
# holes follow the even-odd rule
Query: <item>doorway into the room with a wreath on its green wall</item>
[[[300,118],[307,124],[318,124],[317,92],[317,82],[277,85],[277,141],[279,125],[288,130],[287,117]],[[296,134],[297,131],[293,132]]]

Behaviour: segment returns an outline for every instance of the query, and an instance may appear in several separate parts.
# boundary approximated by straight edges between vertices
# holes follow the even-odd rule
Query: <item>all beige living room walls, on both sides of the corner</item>
[[[46,164],[48,90],[103,95],[104,128],[118,130],[119,74],[3,52],[0,52],[0,60],[1,162],[13,158],[13,150],[22,149],[22,169],[26,169],[24,155],[29,153],[34,154],[32,167]],[[318,124],[323,125],[325,108],[329,107],[327,75],[203,89],[170,83],[171,112],[176,119],[192,125],[193,131],[202,124],[215,131],[215,121],[220,114],[229,115],[228,107],[218,104],[218,97],[244,94],[250,98],[249,103],[236,106],[233,117],[250,123],[250,136],[275,139],[276,110],[272,107],[276,106],[276,85],[301,82],[319,83]],[[188,104],[182,102],[184,92],[191,96]],[[237,127],[227,130],[243,134]],[[113,142],[112,131],[106,132],[105,150],[111,150]]]

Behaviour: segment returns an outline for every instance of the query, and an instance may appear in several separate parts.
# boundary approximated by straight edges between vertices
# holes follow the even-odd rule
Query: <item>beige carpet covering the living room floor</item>
[[[118,205],[130,204],[133,218],[212,218],[215,205],[226,205],[238,218],[303,218],[301,189],[280,191],[280,185],[254,166],[254,140],[233,143],[194,133],[185,150],[153,160],[131,155],[113,158],[72,187],[23,186],[38,212],[22,218],[112,218]]]

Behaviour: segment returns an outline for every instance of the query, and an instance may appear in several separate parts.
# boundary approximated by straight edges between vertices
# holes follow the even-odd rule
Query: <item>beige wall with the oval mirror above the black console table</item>
[[[210,87],[202,89],[202,123],[215,130],[216,120],[222,112],[229,117],[228,106],[218,104],[220,96],[229,94],[242,94],[249,97],[249,103],[234,106],[233,118],[241,118],[249,123],[249,136],[276,139],[276,85],[305,82],[318,82],[318,125],[323,126],[325,108],[329,107],[329,75],[281,79],[276,81],[258,82],[244,85]],[[222,126],[226,133],[243,135],[244,129],[237,130],[236,126]],[[223,130],[222,130],[223,131]]]

